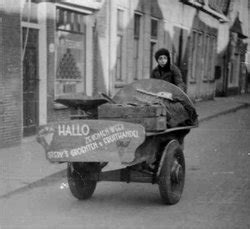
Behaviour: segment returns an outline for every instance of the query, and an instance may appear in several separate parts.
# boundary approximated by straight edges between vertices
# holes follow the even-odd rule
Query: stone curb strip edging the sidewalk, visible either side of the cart
[[[233,112],[236,112],[237,110],[245,109],[245,108],[248,108],[248,107],[250,107],[250,103],[243,103],[243,104],[241,104],[239,106],[236,106],[234,108],[224,110],[224,111],[218,112],[216,114],[201,118],[201,119],[199,119],[199,123],[211,120],[211,119],[216,118],[216,117],[221,116],[221,115],[233,113]],[[34,182],[32,182],[32,183],[30,183],[28,185],[25,185],[25,186],[23,186],[21,188],[10,191],[7,194],[3,194],[3,195],[0,196],[0,199],[9,198],[12,195],[21,194],[21,193],[23,193],[25,191],[28,191],[30,189],[33,189],[33,188],[38,188],[38,187],[41,187],[43,185],[52,184],[52,183],[54,183],[56,181],[59,181],[62,178],[66,178],[66,177],[67,177],[67,169],[63,169],[63,170],[61,170],[59,172],[56,172],[56,173],[53,173],[53,174],[51,174],[49,176],[41,178],[41,179],[39,179],[37,181],[34,181]]]

